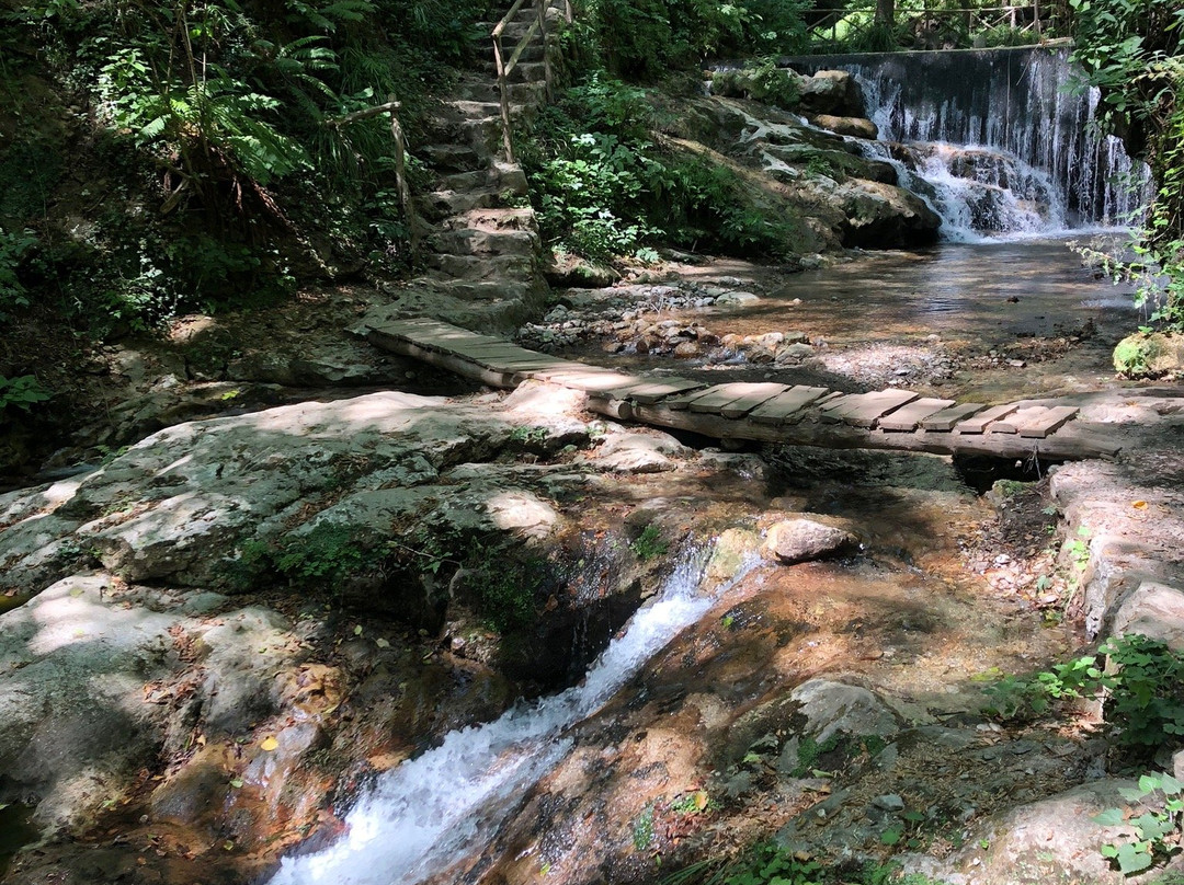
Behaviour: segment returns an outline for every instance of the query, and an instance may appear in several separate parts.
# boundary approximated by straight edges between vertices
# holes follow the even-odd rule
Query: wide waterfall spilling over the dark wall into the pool
[[[926,199],[954,241],[1128,224],[1147,170],[1093,124],[1099,102],[1064,47],[790,59],[850,71],[880,141],[870,159]]]

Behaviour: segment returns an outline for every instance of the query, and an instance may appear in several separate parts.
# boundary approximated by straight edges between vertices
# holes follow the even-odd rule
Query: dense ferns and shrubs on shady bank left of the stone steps
[[[390,122],[334,121],[394,95],[414,142],[429,93],[484,47],[475,22],[490,6],[37,0],[0,9],[0,39],[21,50],[0,66],[6,110],[20,121],[0,147],[0,312],[22,306],[34,285],[50,296],[38,301],[98,335],[240,306],[245,293],[291,290],[294,257],[308,254],[300,225],[393,270],[406,260],[407,225],[390,185]],[[77,118],[96,137],[66,149],[52,127],[75,109],[24,98],[26,75],[82,105]],[[109,193],[86,201],[83,189],[62,205],[110,212],[65,233],[46,207],[73,177],[60,174],[67,153],[107,176]],[[27,227],[32,251],[14,233]]]

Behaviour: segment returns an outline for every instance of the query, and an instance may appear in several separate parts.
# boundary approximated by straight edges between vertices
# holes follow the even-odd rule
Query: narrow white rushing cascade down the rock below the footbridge
[[[570,729],[752,567],[706,593],[704,560],[701,551],[683,558],[580,685],[453,731],[438,748],[381,775],[347,815],[347,834],[326,851],[284,859],[271,885],[411,885],[478,851],[496,834],[497,820],[571,749]]]

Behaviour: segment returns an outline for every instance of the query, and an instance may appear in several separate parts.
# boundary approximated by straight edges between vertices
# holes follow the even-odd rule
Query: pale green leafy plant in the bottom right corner
[[[1122,797],[1140,803],[1141,812],[1107,808],[1094,816],[1102,826],[1131,827],[1133,839],[1102,845],[1102,857],[1109,858],[1124,876],[1133,876],[1163,863],[1180,851],[1184,836],[1184,783],[1169,774],[1145,774],[1137,789],[1122,788]],[[1147,805],[1147,800],[1152,800]]]

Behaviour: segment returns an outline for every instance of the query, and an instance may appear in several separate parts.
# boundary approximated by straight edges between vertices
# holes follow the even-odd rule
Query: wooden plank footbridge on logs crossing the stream
[[[592,412],[716,439],[1048,460],[1114,458],[1119,452],[1073,422],[1074,406],[1021,400],[989,407],[896,388],[844,394],[803,385],[639,376],[433,319],[385,323],[372,327],[368,337],[385,350],[491,387],[514,388],[528,380],[562,385],[586,392]]]

